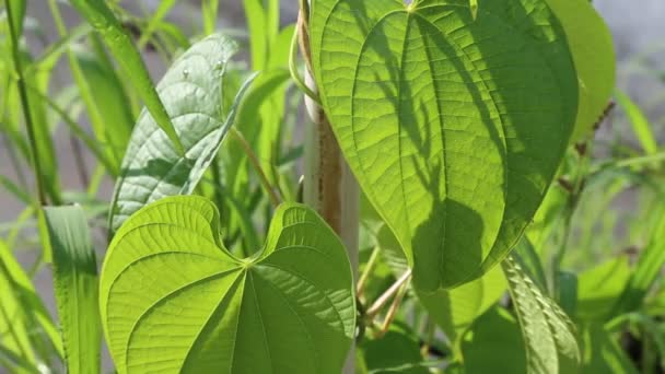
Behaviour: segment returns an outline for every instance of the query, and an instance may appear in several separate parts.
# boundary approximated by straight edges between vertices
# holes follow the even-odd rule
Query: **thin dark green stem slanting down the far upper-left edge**
[[[35,135],[35,128],[33,124],[32,114],[30,112],[30,102],[27,100],[27,90],[25,87],[25,80],[23,77],[23,68],[21,67],[21,58],[19,57],[19,40],[16,32],[14,30],[14,20],[11,9],[11,0],[4,0],[4,8],[7,9],[7,21],[9,23],[9,35],[11,38],[12,58],[16,74],[19,75],[19,95],[21,96],[21,108],[23,109],[23,117],[25,119],[25,127],[27,128],[27,137],[32,149],[33,167],[35,172],[35,184],[37,186],[37,198],[42,206],[47,203],[46,192],[44,190],[44,173],[42,171],[42,162],[39,161],[39,151],[37,149],[37,138]]]

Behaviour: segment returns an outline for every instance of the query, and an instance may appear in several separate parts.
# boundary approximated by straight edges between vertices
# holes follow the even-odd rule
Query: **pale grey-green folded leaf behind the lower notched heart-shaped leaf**
[[[145,203],[190,194],[214,159],[235,120],[235,108],[253,81],[241,87],[225,118],[222,110],[225,67],[235,43],[211,35],[195,44],[166,72],[158,91],[186,149],[179,155],[148,112],[135,127],[116,183],[110,212],[112,231]]]

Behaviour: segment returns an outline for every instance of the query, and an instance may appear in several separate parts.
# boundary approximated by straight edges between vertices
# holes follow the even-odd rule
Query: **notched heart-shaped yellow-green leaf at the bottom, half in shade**
[[[178,196],[118,231],[101,313],[119,373],[339,373],[355,308],[331,229],[304,206],[282,204],[264,249],[238,259],[219,224],[209,200]]]

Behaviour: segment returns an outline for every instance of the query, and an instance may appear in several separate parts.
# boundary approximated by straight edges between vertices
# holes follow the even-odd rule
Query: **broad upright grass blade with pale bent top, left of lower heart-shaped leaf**
[[[68,373],[98,373],[102,327],[92,237],[80,207],[45,208]]]

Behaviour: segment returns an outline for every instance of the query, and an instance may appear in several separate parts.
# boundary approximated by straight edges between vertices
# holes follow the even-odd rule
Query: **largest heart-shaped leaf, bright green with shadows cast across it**
[[[578,112],[564,32],[545,0],[317,0],[324,108],[423,291],[480,277],[514,246]]]

